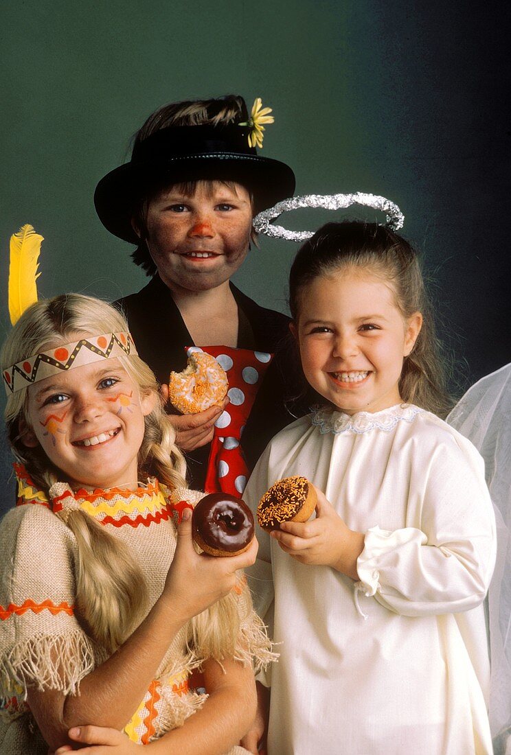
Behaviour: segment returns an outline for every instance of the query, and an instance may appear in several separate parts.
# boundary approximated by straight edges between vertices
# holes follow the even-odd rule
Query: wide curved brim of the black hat
[[[110,171],[96,186],[94,205],[104,227],[131,244],[140,239],[132,217],[154,186],[181,181],[232,180],[252,192],[254,214],[293,196],[295,174],[283,162],[241,153],[194,154],[158,162],[127,162]]]

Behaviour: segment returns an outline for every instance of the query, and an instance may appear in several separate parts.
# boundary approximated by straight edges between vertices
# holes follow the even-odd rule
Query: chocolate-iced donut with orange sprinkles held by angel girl
[[[282,522],[306,522],[316,500],[314,486],[305,477],[285,477],[259,501],[257,520],[262,529],[279,529]]]

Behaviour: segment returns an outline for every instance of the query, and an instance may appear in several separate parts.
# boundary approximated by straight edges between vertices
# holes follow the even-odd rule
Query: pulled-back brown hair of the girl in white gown
[[[410,244],[376,223],[327,223],[296,254],[290,271],[290,310],[297,321],[303,289],[314,279],[346,268],[361,268],[386,279],[404,319],[423,315],[423,327],[410,355],[404,358],[399,390],[405,402],[444,418],[452,408],[441,341],[435,334],[432,307],[419,259]]]

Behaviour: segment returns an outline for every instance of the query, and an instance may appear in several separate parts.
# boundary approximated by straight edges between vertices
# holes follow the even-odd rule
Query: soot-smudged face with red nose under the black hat
[[[243,186],[231,186],[197,181],[193,196],[174,186],[150,202],[145,241],[160,278],[171,290],[216,288],[245,259],[252,203]]]

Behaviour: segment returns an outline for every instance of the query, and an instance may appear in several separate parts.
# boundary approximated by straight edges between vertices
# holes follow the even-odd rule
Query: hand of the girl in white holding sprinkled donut
[[[271,538],[286,553],[304,564],[332,566],[358,580],[357,559],[364,550],[364,533],[349,529],[324,494],[317,495],[316,518],[308,522],[282,522]]]

